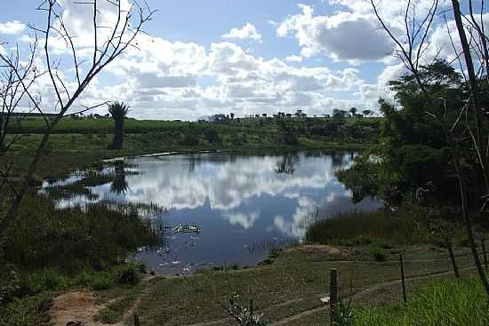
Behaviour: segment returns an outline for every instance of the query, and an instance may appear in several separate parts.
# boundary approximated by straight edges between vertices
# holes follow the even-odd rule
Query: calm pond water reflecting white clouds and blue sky
[[[167,228],[162,244],[142,248],[135,259],[164,274],[197,268],[256,264],[269,249],[301,241],[311,220],[381,207],[373,199],[354,204],[336,179],[356,153],[300,152],[285,155],[168,155],[124,159],[101,174],[116,178],[86,187],[89,194],[59,199],[60,206],[110,200],[156,203],[167,208],[166,227],[194,224],[199,234]],[[50,187],[84,178],[74,173]]]

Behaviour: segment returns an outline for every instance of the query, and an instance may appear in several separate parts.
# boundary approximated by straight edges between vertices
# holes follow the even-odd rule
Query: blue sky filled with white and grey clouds
[[[114,25],[114,7],[99,1],[100,26]],[[132,0],[120,0],[129,6]],[[378,111],[379,98],[393,99],[387,83],[405,74],[394,57],[396,49],[381,30],[372,5],[365,0],[148,0],[157,10],[144,25],[145,34],[112,62],[76,101],[73,110],[105,101],[124,101],[130,116],[141,119],[196,120],[234,113],[236,116],[277,111],[330,115],[334,108]],[[440,12],[449,8],[440,0]],[[377,1],[382,18],[394,31],[402,27],[405,0]],[[413,0],[416,12],[429,8]],[[0,52],[28,45],[46,15],[38,0],[2,1]],[[92,57],[91,6],[59,0],[60,13],[74,36],[81,58]],[[462,8],[464,9],[464,8]],[[477,8],[478,9],[478,8]],[[484,11],[485,12],[485,11]],[[484,15],[484,20],[489,17]],[[458,38],[448,16],[454,42]],[[108,28],[105,28],[106,30]],[[103,31],[99,32],[103,38]],[[431,60],[435,53],[453,58],[449,36],[437,15],[429,33]],[[44,46],[44,41],[40,41]],[[60,38],[50,40],[52,61],[68,85],[76,87],[69,49]],[[83,60],[82,60],[83,61]],[[36,63],[45,68],[39,52]],[[83,67],[81,68],[83,72]],[[55,112],[56,97],[47,76],[36,84],[45,112]],[[92,113],[107,113],[101,106]]]

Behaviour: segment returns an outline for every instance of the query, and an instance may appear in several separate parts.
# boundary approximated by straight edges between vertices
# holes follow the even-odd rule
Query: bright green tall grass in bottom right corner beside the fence
[[[359,308],[354,326],[489,325],[489,303],[476,277],[434,282],[416,293],[407,307]]]

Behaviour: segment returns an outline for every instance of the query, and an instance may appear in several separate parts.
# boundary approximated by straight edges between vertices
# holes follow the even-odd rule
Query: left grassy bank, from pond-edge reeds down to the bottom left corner
[[[105,290],[139,280],[144,268],[125,258],[157,240],[152,221],[141,219],[141,207],[59,209],[36,193],[24,203],[4,232],[0,325],[44,325],[46,302],[62,291]]]

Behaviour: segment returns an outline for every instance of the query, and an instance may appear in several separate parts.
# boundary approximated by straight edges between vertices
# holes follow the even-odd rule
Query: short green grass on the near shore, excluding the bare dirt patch
[[[355,249],[363,250],[362,247]],[[330,268],[339,270],[341,295],[349,294],[351,263],[334,260],[348,259],[347,250],[352,248],[343,250],[343,256],[334,258],[327,253],[305,254],[300,250],[285,250],[278,253],[278,258],[274,258],[273,264],[268,266],[238,271],[213,271],[187,278],[156,279],[136,311],[140,314],[143,325],[209,322],[228,317],[220,303],[225,304],[229,295],[237,292],[244,300],[253,298],[257,311],[262,311],[267,320],[278,321],[322,306],[319,298],[328,293]],[[413,257],[424,257],[422,261],[406,261],[405,274],[409,278],[450,271],[445,252],[431,250],[429,247],[403,250],[416,252],[412,254]],[[468,253],[468,250],[463,250],[463,256],[459,256],[461,266],[471,265]],[[397,280],[399,266],[392,259],[396,256],[389,255],[388,261],[379,263],[368,252],[359,252],[354,290]]]

